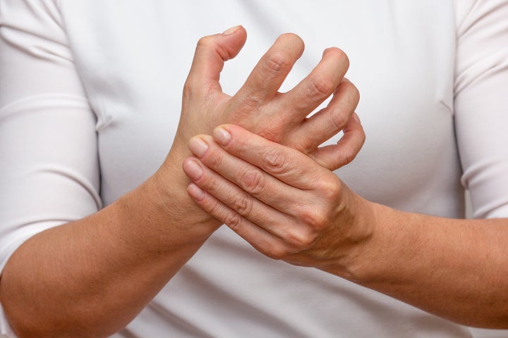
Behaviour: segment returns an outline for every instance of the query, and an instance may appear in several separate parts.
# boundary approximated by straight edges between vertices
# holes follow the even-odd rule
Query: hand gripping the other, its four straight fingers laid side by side
[[[361,128],[351,119],[342,146],[358,152]],[[266,256],[353,277],[349,262],[370,238],[368,202],[339,177],[302,154],[236,125],[189,142],[183,169],[196,204]],[[337,151],[334,151],[337,156]],[[337,158],[334,160],[337,161]],[[342,165],[351,158],[339,159]]]

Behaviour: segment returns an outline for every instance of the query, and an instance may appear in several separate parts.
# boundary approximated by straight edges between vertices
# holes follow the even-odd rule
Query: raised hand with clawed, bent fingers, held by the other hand
[[[329,48],[322,60],[293,89],[278,89],[303,53],[303,41],[296,35],[281,35],[262,56],[258,65],[234,96],[222,92],[219,76],[224,61],[234,58],[246,42],[243,27],[203,37],[198,42],[193,65],[183,89],[179,128],[167,162],[181,165],[188,156],[188,140],[196,134],[210,134],[222,123],[232,123],[271,141],[312,154],[327,168],[337,147],[317,146],[344,128],[358,104],[358,90],[344,79],[349,60],[343,51]],[[317,106],[333,95],[326,108],[310,118]],[[171,156],[177,153],[178,158]],[[182,156],[182,154],[184,156]]]

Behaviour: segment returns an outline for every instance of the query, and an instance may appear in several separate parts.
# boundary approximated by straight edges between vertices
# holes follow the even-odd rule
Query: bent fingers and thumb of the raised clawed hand
[[[245,41],[246,31],[241,26],[200,39],[184,87],[183,106],[195,101],[192,97],[195,91],[222,94],[219,76],[224,61],[236,56]],[[303,151],[325,168],[334,170],[356,156],[365,138],[361,125],[349,123],[358,104],[358,90],[351,82],[343,80],[349,67],[346,54],[330,48],[304,80],[286,94],[280,94],[280,85],[302,52],[303,42],[298,36],[281,35],[231,99],[228,107],[235,114],[230,120],[266,139]],[[332,93],[334,96],[326,108],[306,118]],[[339,144],[316,150],[346,125],[347,132],[344,130]]]

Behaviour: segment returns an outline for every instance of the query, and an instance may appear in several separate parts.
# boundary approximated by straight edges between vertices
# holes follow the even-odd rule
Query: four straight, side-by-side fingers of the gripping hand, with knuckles
[[[240,127],[230,131],[231,137],[226,142],[228,151],[236,151],[242,157],[258,151],[252,144],[262,138]],[[251,139],[251,142],[241,145],[235,138]],[[259,146],[272,143],[265,141],[259,142]],[[210,136],[193,137],[189,149],[199,158],[187,158],[183,163],[183,170],[194,182],[188,186],[188,193],[195,203],[272,258],[287,258],[313,246],[321,232],[332,224],[334,215],[344,209],[339,203],[338,177],[301,153],[296,161],[280,167],[284,173],[279,170],[273,173],[306,189],[298,189],[265,173],[262,168],[271,165],[263,165],[262,154],[250,157],[256,163],[253,165],[229,154]],[[284,146],[279,146],[277,151],[279,154],[294,152]]]

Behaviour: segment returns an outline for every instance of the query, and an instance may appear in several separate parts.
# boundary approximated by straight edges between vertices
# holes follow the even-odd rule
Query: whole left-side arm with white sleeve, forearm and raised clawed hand
[[[1,206],[12,211],[0,223],[2,244],[11,248],[2,257],[8,261],[1,275],[0,299],[20,337],[106,336],[121,329],[217,229],[220,223],[195,206],[186,193],[188,178],[181,163],[190,154],[188,137],[210,132],[219,123],[241,123],[277,142],[312,153],[322,137],[341,128],[340,121],[348,120],[356,105],[356,89],[341,84],[348,64],[338,49],[326,51],[315,70],[294,90],[277,92],[303,52],[301,39],[294,35],[280,37],[240,91],[226,96],[220,90],[219,73],[224,61],[240,51],[246,32],[238,27],[229,34],[205,37],[196,49],[184,88],[179,130],[166,160],[140,187],[101,209],[95,116],[80,88],[63,25],[55,25],[59,23],[58,8],[52,1],[3,1],[1,5],[5,17],[0,27],[0,69],[26,70],[35,79],[27,83],[24,76],[0,76],[0,128],[6,131],[0,133],[5,137],[0,142],[5,175],[0,176],[2,187],[9,187],[2,189]],[[17,11],[37,13],[40,18],[33,23],[44,27],[20,27],[25,20],[16,20]],[[18,40],[18,34],[30,38]],[[44,48],[38,49],[40,45]],[[7,64],[9,68],[4,66]],[[59,81],[47,81],[55,77]],[[339,87],[346,89],[341,93],[353,93],[353,106],[333,109],[335,104],[330,104],[332,108],[306,119]],[[62,93],[80,102],[76,111],[59,99]],[[35,100],[28,113],[13,113],[19,102],[33,97],[56,100],[44,107]],[[82,118],[76,119],[74,113]],[[40,120],[33,116],[37,114],[51,121],[44,125],[42,134],[16,130],[16,125],[36,128]],[[40,142],[47,134],[60,131],[67,133]],[[309,139],[305,134],[319,137]],[[6,145],[28,146],[30,154],[43,157],[15,156]],[[77,160],[66,163],[68,158]],[[46,171],[56,180],[33,175],[41,164],[51,168]],[[19,168],[28,168],[23,171],[28,180]],[[73,189],[64,189],[68,185]],[[37,199],[28,199],[32,196]],[[30,223],[23,223],[25,215],[30,216]],[[47,218],[54,221],[45,223]],[[25,242],[13,244],[13,237]]]

